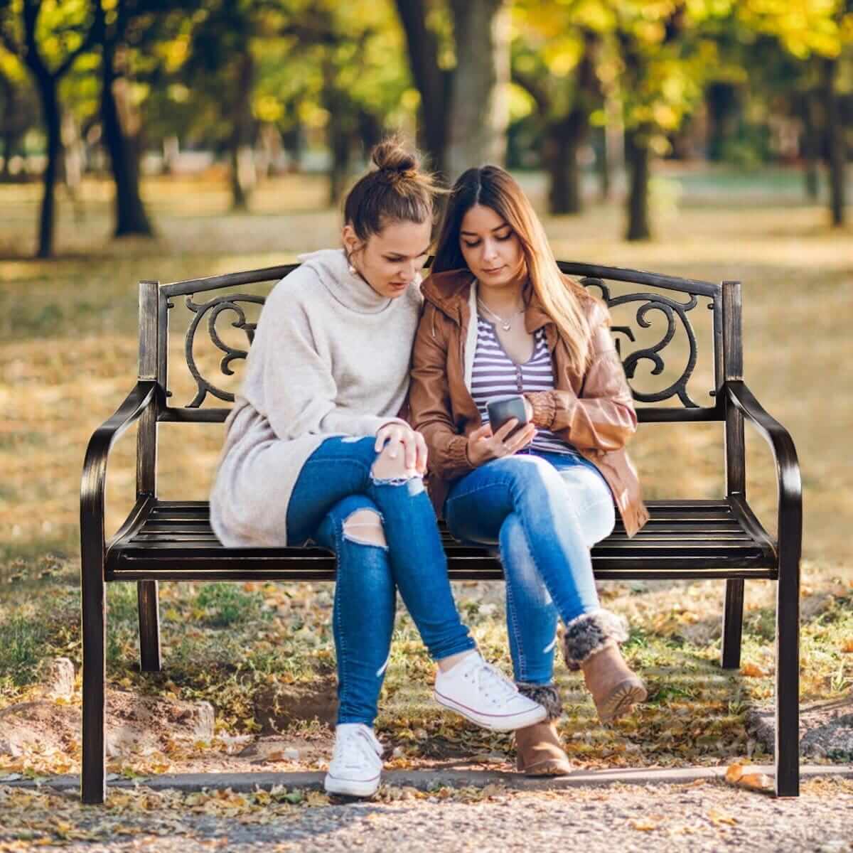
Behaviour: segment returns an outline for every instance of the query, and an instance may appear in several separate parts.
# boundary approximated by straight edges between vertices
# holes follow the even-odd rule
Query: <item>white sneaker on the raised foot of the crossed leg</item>
[[[548,716],[543,705],[519,693],[519,688],[479,653],[469,654],[450,672],[438,670],[432,695],[439,705],[497,732],[525,728]]]

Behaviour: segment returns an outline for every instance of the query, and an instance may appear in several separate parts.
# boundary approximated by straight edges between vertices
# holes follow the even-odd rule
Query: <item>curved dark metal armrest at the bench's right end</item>
[[[779,494],[777,537],[780,568],[782,554],[795,554],[796,565],[803,544],[803,487],[791,433],[763,409],[742,381],[728,380],[725,388],[728,404],[734,405],[747,421],[755,425],[773,451]]]

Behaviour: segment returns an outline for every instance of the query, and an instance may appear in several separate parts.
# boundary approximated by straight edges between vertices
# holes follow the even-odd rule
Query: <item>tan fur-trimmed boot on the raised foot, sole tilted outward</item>
[[[646,686],[624,662],[618,644],[628,639],[624,621],[608,610],[584,613],[566,625],[563,656],[583,681],[601,722],[612,722],[646,699]]]

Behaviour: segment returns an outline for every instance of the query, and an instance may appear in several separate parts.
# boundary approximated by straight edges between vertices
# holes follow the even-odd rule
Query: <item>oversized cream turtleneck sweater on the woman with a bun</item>
[[[287,506],[308,457],[334,435],[373,436],[409,390],[421,292],[387,299],[324,249],[273,288],[261,312],[211,492],[231,548],[287,541]]]

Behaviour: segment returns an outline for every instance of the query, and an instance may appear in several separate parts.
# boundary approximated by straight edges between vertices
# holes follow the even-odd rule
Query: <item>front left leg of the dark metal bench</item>
[[[83,770],[84,803],[103,803],[107,796],[104,717],[107,679],[107,600],[100,543],[87,548],[84,537],[81,572],[83,618]],[[88,552],[88,553],[87,553]]]

